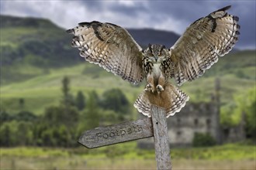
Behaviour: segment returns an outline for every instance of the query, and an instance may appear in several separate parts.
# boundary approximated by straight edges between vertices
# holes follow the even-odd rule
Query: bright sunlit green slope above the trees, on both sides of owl
[[[190,101],[199,102],[210,100],[214,93],[214,81],[220,77],[221,101],[223,103],[233,100],[234,93],[244,93],[255,86],[255,56],[254,52],[240,52],[225,56],[216,63],[211,70],[193,82],[185,83],[181,88],[189,94]],[[21,67],[21,70],[27,70]],[[36,69],[31,68],[33,73]],[[4,73],[5,74],[5,73]],[[25,100],[26,110],[41,114],[50,104],[58,104],[61,98],[61,80],[64,76],[71,79],[71,91],[76,94],[78,90],[88,92],[96,90],[99,93],[118,87],[126,93],[132,104],[145,83],[140,87],[133,87],[118,76],[107,73],[105,70],[86,62],[59,69],[49,69],[47,73],[40,74],[29,80],[19,83],[9,83],[1,87],[1,104],[5,110],[16,113],[20,110],[19,99]]]

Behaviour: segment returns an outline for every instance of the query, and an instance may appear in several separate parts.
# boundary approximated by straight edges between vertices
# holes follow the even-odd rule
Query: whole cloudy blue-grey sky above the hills
[[[255,0],[67,1],[1,0],[1,14],[50,19],[64,29],[78,22],[112,22],[126,28],[154,28],[182,34],[196,19],[226,5],[240,18],[240,49],[255,49]]]

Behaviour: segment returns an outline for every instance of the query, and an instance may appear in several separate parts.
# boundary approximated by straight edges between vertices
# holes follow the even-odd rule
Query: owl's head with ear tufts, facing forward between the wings
[[[147,57],[152,63],[161,63],[167,55],[168,49],[159,44],[148,44],[147,49],[144,50],[144,57]]]

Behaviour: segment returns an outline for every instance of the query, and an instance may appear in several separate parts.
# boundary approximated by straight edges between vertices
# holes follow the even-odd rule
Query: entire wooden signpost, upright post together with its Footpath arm
[[[85,131],[78,142],[86,148],[99,148],[125,141],[154,137],[157,169],[171,170],[165,110],[156,106],[152,107],[151,110],[152,117],[150,118]]]

